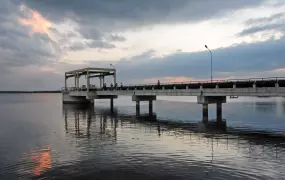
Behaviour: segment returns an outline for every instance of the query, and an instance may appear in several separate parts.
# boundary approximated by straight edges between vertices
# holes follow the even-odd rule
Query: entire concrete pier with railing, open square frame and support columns
[[[79,78],[82,75],[86,76],[87,85],[80,88]],[[105,76],[114,77],[114,86],[106,86]],[[70,77],[75,78],[75,87],[66,86],[66,80]],[[100,85],[91,85],[90,78],[99,78]],[[207,121],[208,104],[217,104],[217,119],[222,119],[222,103],[226,103],[227,96],[285,97],[285,77],[117,86],[116,69],[84,68],[65,73],[62,93],[63,103],[93,104],[94,99],[110,99],[111,109],[114,99],[119,95],[132,96],[132,101],[136,101],[138,115],[140,101],[149,102],[149,113],[152,114],[152,104],[156,96],[197,96],[198,104],[203,106],[203,119]]]

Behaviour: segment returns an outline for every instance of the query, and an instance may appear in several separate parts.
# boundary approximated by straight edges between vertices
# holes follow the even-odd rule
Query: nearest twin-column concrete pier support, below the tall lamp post
[[[222,103],[226,103],[226,96],[197,96],[197,101],[203,105],[203,121],[208,120],[208,104],[217,104],[217,120],[222,120]]]

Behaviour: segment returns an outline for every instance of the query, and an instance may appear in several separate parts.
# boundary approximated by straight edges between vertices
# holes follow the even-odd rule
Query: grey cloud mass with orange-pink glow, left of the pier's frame
[[[60,48],[47,34],[48,26],[39,14],[30,14],[9,0],[0,1],[0,87],[1,89],[25,89],[33,86],[32,79],[41,74],[22,73],[29,67],[33,72],[38,67],[49,65],[60,57]],[[47,76],[48,77],[48,76]],[[52,76],[49,76],[52,77]],[[37,80],[41,86],[46,82]],[[54,85],[53,85],[54,86]]]

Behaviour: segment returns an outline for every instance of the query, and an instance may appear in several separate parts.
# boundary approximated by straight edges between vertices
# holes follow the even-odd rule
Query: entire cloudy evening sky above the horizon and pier
[[[282,77],[284,33],[285,0],[1,0],[0,90],[110,63],[123,84],[205,80],[205,45],[214,79]]]

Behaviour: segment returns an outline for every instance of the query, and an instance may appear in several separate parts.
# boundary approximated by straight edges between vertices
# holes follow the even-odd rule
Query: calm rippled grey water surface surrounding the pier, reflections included
[[[284,99],[229,100],[222,122],[210,106],[207,124],[195,98],[161,99],[156,117],[142,103],[136,118],[130,97],[111,113],[108,101],[2,94],[0,179],[285,179]]]

